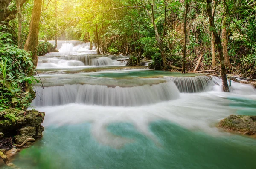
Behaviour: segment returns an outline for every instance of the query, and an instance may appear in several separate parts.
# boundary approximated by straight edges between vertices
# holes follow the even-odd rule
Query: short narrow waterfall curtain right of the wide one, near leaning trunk
[[[214,82],[209,76],[195,76],[195,77],[166,77],[172,80],[180,92],[182,93],[196,93],[206,92],[212,89]]]

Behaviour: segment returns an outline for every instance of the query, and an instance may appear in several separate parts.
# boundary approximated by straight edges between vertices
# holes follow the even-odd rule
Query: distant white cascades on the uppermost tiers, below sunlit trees
[[[55,41],[49,42],[55,45]],[[57,49],[59,52],[39,57],[37,69],[124,65],[126,62],[116,59],[128,58],[122,55],[96,55],[95,46],[90,50],[90,43],[75,40],[58,41]]]

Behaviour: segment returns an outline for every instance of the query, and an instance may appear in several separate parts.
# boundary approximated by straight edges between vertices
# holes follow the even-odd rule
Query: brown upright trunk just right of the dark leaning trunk
[[[223,56],[225,60],[226,67],[230,68],[230,60],[227,52],[227,43],[228,43],[228,37],[227,37],[227,24],[226,24],[226,16],[223,19],[223,26],[221,31],[221,42],[223,46]]]

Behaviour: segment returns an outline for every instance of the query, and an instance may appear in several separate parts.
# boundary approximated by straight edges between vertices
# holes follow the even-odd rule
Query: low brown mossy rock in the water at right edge
[[[230,115],[220,121],[219,127],[245,135],[256,136],[256,116]]]

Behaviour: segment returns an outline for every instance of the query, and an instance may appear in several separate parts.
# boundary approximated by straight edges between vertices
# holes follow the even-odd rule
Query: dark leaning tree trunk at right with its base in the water
[[[214,23],[214,17],[212,16],[212,0],[206,0],[207,3],[207,14],[209,17],[209,23],[210,23],[210,29],[213,32],[214,38],[215,38],[215,43],[217,45],[218,53],[219,53],[219,60],[221,62],[221,77],[222,77],[222,87],[224,92],[229,92],[229,87],[227,83],[227,76],[226,76],[226,66],[225,66],[225,61],[223,57],[223,50],[222,50],[222,45],[221,45],[221,40],[220,37],[217,33],[215,23]]]

